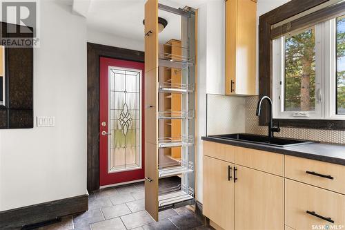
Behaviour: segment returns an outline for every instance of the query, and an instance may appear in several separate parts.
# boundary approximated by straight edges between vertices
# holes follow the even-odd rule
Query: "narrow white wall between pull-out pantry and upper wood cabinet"
[[[202,203],[201,137],[206,135],[206,93],[219,95],[225,93],[224,1],[208,1],[199,7],[197,30],[197,200]],[[221,98],[224,100],[224,97]],[[218,108],[216,107],[215,113],[220,112],[221,108],[219,110]],[[219,123],[213,120],[209,122],[208,126],[218,127]]]

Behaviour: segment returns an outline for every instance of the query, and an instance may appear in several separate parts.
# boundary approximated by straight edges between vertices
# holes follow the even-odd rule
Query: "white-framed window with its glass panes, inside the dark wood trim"
[[[273,40],[273,116],[345,119],[345,16]]]

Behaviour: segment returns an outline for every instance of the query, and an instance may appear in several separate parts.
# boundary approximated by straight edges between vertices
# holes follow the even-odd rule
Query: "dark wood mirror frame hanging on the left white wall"
[[[1,22],[1,31],[8,23]],[[17,25],[17,31],[21,26]],[[32,28],[30,28],[32,30]],[[2,39],[9,36],[2,32]],[[16,34],[12,37],[33,37]],[[5,105],[0,106],[0,128],[33,128],[33,48],[5,48]]]

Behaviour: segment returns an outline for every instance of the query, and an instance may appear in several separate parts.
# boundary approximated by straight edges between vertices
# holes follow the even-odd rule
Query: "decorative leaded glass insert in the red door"
[[[141,70],[109,66],[108,173],[141,169]]]

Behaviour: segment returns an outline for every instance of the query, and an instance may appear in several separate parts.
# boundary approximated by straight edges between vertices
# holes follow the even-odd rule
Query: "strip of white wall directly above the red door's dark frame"
[[[87,38],[88,38],[88,42],[92,42],[95,44],[127,48],[130,50],[139,50],[139,51],[145,50],[144,37],[141,41],[139,41],[135,39],[115,36],[112,34],[108,34],[106,32],[101,32],[101,31],[95,30],[95,28],[88,28]]]

